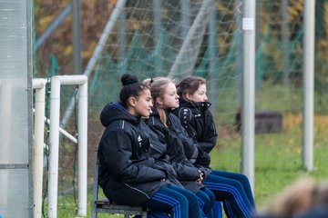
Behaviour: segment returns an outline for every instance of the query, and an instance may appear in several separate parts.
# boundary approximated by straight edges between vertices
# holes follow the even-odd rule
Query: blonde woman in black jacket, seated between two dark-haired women
[[[147,84],[150,85],[154,91],[154,96],[157,96],[157,90],[160,88],[157,86],[169,85],[170,80],[168,78],[155,78],[154,80],[147,80]],[[168,84],[169,83],[169,84]],[[197,150],[194,148],[192,140],[188,137],[183,137],[183,134],[179,134],[179,131],[183,131],[182,126],[180,129],[172,128],[176,122],[179,122],[178,118],[173,114],[168,114],[165,109],[169,106],[177,104],[177,99],[174,93],[170,93],[165,101],[161,101],[159,98],[154,99],[155,107],[152,109],[149,119],[146,120],[146,124],[157,134],[159,141],[162,142],[161,147],[153,149],[157,151],[156,156],[162,156],[167,154],[169,156],[169,163],[177,172],[179,182],[192,193],[195,193],[200,201],[201,207],[205,214],[210,213],[210,210],[214,203],[214,194],[201,183],[203,180],[203,174],[200,169],[193,165],[185,156],[185,153],[197,157]],[[188,146],[184,148],[183,144]]]

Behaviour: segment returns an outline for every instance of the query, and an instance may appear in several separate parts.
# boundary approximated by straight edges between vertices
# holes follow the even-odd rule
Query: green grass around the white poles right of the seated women
[[[328,116],[316,116],[314,119],[314,170],[311,173],[302,167],[301,115],[284,114],[283,117],[282,134],[255,136],[254,194],[260,207],[275,193],[302,176],[311,176],[318,182],[328,178]],[[211,154],[212,168],[239,172],[240,140],[240,137],[225,139],[225,144],[220,144]]]

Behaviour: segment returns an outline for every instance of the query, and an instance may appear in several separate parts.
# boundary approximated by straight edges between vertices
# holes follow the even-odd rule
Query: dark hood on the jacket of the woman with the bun
[[[139,124],[141,117],[128,113],[128,110],[117,102],[108,103],[100,114],[100,122],[105,127],[116,120],[127,120],[132,124]]]

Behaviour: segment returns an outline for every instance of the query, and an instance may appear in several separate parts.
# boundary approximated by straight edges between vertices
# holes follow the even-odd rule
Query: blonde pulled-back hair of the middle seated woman
[[[167,126],[167,117],[166,117],[164,110],[157,106],[156,99],[163,98],[163,96],[165,94],[165,87],[166,87],[166,85],[168,85],[170,83],[174,84],[174,80],[172,80],[168,77],[162,77],[162,76],[144,80],[144,84],[147,84],[150,87],[151,97],[154,101],[154,105],[156,106],[156,108],[159,112],[160,121],[165,126]]]

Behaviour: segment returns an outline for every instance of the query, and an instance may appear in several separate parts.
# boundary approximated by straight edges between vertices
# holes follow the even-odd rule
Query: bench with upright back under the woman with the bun
[[[129,215],[141,215],[142,218],[147,218],[147,213],[148,213],[147,208],[119,205],[116,203],[109,202],[107,198],[99,200],[98,199],[98,188],[99,188],[98,169],[99,169],[99,160],[98,160],[97,149],[96,149],[91,218],[96,218],[97,213],[119,213],[119,214],[124,214],[125,218],[128,218]]]

